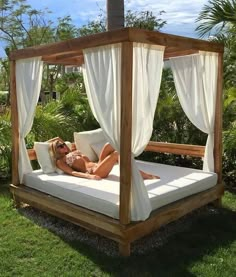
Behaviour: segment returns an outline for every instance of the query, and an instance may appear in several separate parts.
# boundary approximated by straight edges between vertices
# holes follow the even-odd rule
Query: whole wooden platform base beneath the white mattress
[[[176,201],[152,212],[150,217],[145,221],[122,225],[119,220],[23,185],[10,185],[10,190],[17,206],[21,202],[29,204],[41,211],[110,238],[119,243],[119,251],[122,256],[130,255],[130,244],[133,241],[208,203],[219,202],[224,192],[223,186],[218,184],[212,189]]]

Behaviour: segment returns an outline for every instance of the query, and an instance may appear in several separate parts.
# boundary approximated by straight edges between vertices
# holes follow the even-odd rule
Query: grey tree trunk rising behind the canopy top
[[[107,0],[107,31],[124,27],[124,0]]]

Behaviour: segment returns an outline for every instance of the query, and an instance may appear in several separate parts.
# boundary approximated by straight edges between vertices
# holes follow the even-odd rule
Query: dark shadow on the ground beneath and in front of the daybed
[[[118,256],[118,245],[31,207],[19,212],[59,236],[112,276],[196,276],[193,263],[236,240],[236,212],[204,207],[132,245],[132,256]]]

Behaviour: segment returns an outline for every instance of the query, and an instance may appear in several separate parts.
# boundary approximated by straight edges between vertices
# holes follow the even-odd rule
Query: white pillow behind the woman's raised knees
[[[90,161],[93,162],[97,161],[98,157],[92,149],[91,145],[105,140],[106,139],[101,128],[92,131],[74,132],[76,149],[81,151],[81,153],[83,153],[90,159]]]

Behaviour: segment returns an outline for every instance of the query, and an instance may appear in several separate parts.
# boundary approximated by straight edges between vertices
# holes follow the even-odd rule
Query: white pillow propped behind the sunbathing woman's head
[[[69,141],[65,141],[66,145],[71,149],[71,143]],[[34,150],[37,155],[38,163],[43,170],[44,173],[53,173],[57,172],[58,174],[62,174],[63,171],[57,168],[51,160],[49,154],[49,146],[50,142],[35,142]]]

